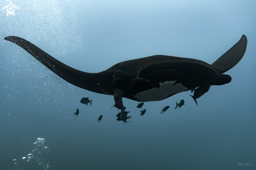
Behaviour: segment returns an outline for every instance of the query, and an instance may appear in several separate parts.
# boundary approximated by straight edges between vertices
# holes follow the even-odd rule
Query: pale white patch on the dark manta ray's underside
[[[176,81],[166,81],[164,83],[159,83],[159,88],[154,87],[143,92],[137,93],[135,97],[139,101],[159,101],[163,100],[176,93],[184,92],[188,90],[182,83],[177,83]]]

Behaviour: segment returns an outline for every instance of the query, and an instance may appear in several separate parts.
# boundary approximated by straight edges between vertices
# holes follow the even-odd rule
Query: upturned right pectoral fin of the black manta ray
[[[217,67],[221,73],[225,73],[235,66],[243,57],[246,52],[247,37],[242,35],[241,39],[227,52],[225,52],[218,60],[212,65]]]

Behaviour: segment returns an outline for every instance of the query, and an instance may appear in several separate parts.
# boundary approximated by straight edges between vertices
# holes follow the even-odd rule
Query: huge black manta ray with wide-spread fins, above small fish
[[[207,92],[209,85],[229,83],[231,76],[223,73],[242,59],[247,47],[247,38],[243,35],[212,65],[196,59],[153,55],[117,63],[103,72],[86,73],[54,59],[25,39],[9,36],[5,40],[16,43],[63,80],[91,92],[113,95],[114,106],[121,109],[121,114],[126,109],[123,97],[141,102],[158,101],[201,88],[197,96],[194,94],[195,99]]]

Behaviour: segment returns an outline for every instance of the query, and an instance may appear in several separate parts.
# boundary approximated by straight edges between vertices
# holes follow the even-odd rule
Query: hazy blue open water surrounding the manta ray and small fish
[[[0,1],[0,8],[9,4]],[[256,1],[12,4],[15,16],[0,13],[0,169],[255,169]],[[198,106],[190,91],[144,103],[143,116],[137,101],[123,98],[132,116],[125,124],[110,109],[113,96],[65,82],[4,40],[24,38],[74,69],[97,73],[157,54],[212,64],[242,35],[247,51],[225,73],[230,83],[212,86]],[[92,106],[81,104],[83,97]]]

